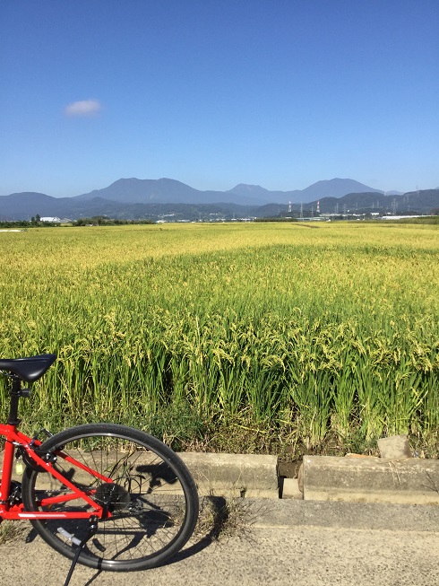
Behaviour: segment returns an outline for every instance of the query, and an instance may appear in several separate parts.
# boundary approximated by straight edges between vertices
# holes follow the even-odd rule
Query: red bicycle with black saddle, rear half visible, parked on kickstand
[[[0,480],[0,522],[29,519],[57,552],[116,572],[163,564],[191,537],[198,495],[190,472],[157,438],[120,424],[84,424],[30,438],[18,431],[22,382],[39,380],[55,354],[0,360],[12,379]],[[44,434],[43,441],[39,437]],[[13,479],[13,463],[22,482]]]

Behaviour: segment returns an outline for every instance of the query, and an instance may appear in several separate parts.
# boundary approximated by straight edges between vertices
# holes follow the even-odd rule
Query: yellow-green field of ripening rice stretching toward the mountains
[[[0,354],[58,355],[28,431],[326,453],[409,433],[436,455],[437,224],[36,228],[0,250]]]

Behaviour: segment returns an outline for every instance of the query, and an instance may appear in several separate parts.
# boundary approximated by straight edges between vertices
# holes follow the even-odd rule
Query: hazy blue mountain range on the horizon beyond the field
[[[285,214],[288,207],[322,213],[379,211],[427,214],[439,207],[439,189],[401,194],[384,193],[354,179],[318,181],[305,189],[270,191],[239,184],[228,191],[201,191],[176,179],[118,179],[107,188],[75,197],[51,197],[36,192],[0,197],[0,220],[29,220],[57,216],[72,220],[96,215],[119,219],[206,219],[268,217]],[[410,209],[411,206],[411,209]]]

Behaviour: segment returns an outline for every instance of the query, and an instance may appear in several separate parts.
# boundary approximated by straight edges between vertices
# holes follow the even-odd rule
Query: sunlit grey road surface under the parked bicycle
[[[244,501],[218,541],[209,527],[166,566],[96,573],[76,566],[71,586],[435,586],[439,507]],[[0,546],[0,584],[62,586],[70,563],[40,538]],[[32,538],[30,534],[30,538]]]

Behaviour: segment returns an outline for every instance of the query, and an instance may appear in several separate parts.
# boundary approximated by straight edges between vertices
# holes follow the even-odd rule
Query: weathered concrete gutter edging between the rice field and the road
[[[439,460],[435,459],[305,456],[298,478],[280,478],[277,456],[197,452],[179,455],[201,495],[439,504]],[[1,460],[0,453],[0,464]]]

